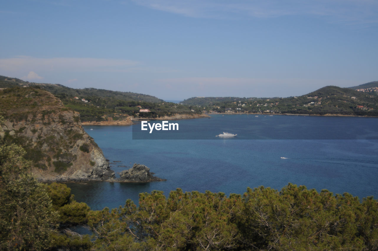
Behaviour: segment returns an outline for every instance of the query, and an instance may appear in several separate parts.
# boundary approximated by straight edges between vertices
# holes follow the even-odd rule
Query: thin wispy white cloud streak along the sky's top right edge
[[[132,0],[138,5],[197,18],[271,18],[315,15],[333,22],[376,23],[378,2],[373,0]]]

